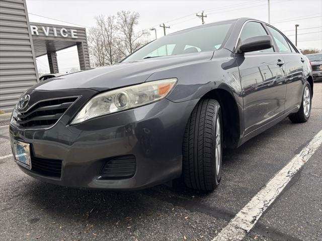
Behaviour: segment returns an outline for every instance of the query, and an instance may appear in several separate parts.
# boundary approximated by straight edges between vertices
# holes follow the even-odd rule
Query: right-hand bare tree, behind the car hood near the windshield
[[[148,42],[146,38],[149,36],[149,33],[147,31],[134,32],[135,27],[139,23],[139,18],[140,15],[137,12],[121,11],[117,13],[117,24],[120,32],[118,49],[124,57]]]

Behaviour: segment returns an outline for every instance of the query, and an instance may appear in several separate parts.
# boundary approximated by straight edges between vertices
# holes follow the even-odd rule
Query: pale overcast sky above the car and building
[[[66,1],[27,0],[30,22],[68,26],[94,27],[94,17],[116,15],[122,10],[140,14],[136,31],[155,27],[157,36],[163,36],[159,24],[170,25],[167,33],[198,26],[201,19],[196,13],[207,14],[206,23],[238,17],[251,17],[268,22],[267,0],[238,1]],[[298,27],[298,48],[322,48],[322,1],[321,0],[271,0],[271,24],[295,42],[295,24]],[[35,16],[45,16],[47,18]],[[51,19],[48,19],[51,18]],[[65,21],[73,24],[67,24]],[[314,28],[315,27],[315,28]],[[151,32],[151,38],[154,32]],[[57,52],[60,72],[78,67],[76,47]],[[37,58],[38,69],[49,73],[47,56]]]

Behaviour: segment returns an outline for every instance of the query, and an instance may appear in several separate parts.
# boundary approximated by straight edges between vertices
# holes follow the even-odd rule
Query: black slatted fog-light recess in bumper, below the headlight
[[[101,178],[129,178],[134,176],[135,170],[135,156],[127,155],[116,157],[105,164]]]

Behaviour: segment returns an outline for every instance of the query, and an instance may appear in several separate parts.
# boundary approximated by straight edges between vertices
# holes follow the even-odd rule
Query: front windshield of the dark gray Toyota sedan
[[[154,40],[122,62],[160,56],[214,51],[221,47],[232,21],[183,30]]]

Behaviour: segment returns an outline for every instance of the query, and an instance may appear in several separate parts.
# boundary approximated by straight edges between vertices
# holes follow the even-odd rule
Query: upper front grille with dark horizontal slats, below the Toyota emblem
[[[19,112],[15,121],[24,128],[46,128],[54,125],[77,97],[38,102],[26,112]]]

